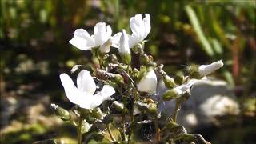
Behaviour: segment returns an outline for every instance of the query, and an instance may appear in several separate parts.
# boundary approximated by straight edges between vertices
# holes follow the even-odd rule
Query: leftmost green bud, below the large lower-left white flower
[[[54,113],[61,118],[63,121],[69,121],[71,118],[70,112],[63,109],[62,107],[55,105],[54,103],[50,104],[50,107],[54,110]]]

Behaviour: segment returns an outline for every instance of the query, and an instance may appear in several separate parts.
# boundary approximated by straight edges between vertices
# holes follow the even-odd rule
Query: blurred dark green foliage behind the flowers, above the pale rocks
[[[75,29],[92,33],[96,22],[106,22],[114,33],[122,28],[129,32],[131,16],[149,13],[152,29],[146,51],[165,64],[169,74],[187,63],[222,59],[225,69],[218,78],[234,86],[246,102],[244,98],[255,95],[255,10],[254,0],[1,0],[1,83],[6,83],[1,93],[30,83],[37,90],[61,89],[62,71],[95,64],[88,59],[90,53],[68,43]]]

